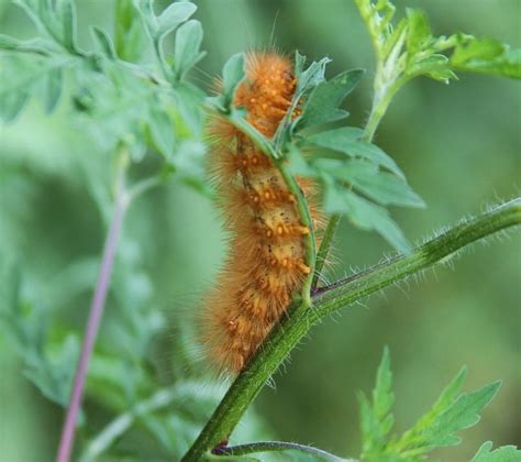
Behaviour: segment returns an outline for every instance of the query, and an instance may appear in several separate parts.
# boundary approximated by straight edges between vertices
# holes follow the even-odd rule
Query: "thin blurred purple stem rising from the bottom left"
[[[62,439],[59,441],[58,454],[56,462],[69,462],[70,452],[73,451],[76,422],[81,407],[81,397],[84,394],[89,359],[98,334],[101,316],[103,315],[104,301],[109,289],[110,275],[114,263],[115,249],[120,237],[123,217],[128,207],[128,196],[122,187],[122,178],[119,182],[119,188],[115,197],[112,221],[110,223],[109,233],[103,248],[103,257],[101,268],[96,285],[96,292],[90,305],[89,321],[85,331],[84,345],[81,355],[79,356],[78,369],[74,381],[73,394],[67,408],[67,417],[62,430]]]

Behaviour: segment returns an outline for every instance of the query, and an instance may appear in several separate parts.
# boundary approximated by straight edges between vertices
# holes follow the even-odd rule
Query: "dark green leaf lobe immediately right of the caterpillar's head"
[[[334,122],[348,116],[339,106],[358,84],[364,70],[354,69],[339,74],[329,81],[319,84],[311,92],[297,129]]]

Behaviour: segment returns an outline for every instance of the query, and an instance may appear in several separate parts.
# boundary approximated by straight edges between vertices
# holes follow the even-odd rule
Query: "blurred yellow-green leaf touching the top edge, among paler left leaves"
[[[146,48],[147,40],[132,0],[117,0],[114,31],[118,56],[125,61],[138,61]]]

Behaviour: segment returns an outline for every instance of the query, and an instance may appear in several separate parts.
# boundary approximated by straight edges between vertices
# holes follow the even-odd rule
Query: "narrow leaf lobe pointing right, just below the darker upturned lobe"
[[[375,144],[362,140],[363,135],[364,131],[361,129],[343,127],[308,136],[304,143],[333,150],[350,157],[366,158],[403,178],[403,173],[398,168],[395,161]]]

